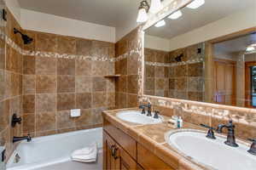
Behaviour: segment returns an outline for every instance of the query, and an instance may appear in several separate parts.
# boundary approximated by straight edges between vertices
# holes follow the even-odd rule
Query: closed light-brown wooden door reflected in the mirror
[[[213,101],[223,105],[236,105],[236,62],[215,59],[213,75]]]

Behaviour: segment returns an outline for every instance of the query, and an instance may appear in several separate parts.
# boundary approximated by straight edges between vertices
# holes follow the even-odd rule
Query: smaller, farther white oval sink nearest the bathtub
[[[138,124],[154,124],[162,122],[162,116],[159,118],[154,118],[154,113],[152,116],[147,116],[146,114],[142,114],[141,111],[119,111],[117,113],[117,117],[125,122],[133,122]]]

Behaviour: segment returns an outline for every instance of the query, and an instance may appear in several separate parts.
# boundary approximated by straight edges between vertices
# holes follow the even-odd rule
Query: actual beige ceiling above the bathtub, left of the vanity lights
[[[21,8],[119,27],[125,20],[137,19],[141,0],[18,0]]]

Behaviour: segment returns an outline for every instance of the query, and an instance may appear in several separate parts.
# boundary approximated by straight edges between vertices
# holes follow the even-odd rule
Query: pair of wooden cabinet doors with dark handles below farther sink
[[[122,149],[107,133],[103,133],[103,150],[105,170],[135,170],[137,169],[137,162]]]

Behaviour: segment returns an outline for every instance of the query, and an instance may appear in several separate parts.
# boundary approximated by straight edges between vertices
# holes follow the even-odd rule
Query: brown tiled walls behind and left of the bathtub
[[[105,77],[114,74],[114,43],[22,30],[7,12],[0,39],[0,144],[7,157],[15,150],[14,136],[102,126],[102,110],[115,108],[115,82]],[[23,45],[14,27],[32,44]],[[70,109],[77,108],[81,116],[71,118]],[[14,113],[22,118],[15,128]]]

